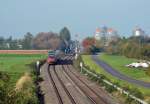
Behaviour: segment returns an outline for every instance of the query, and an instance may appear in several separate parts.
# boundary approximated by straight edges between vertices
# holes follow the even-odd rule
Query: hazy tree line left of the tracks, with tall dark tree
[[[71,42],[71,33],[67,27],[55,32],[40,32],[36,36],[27,32],[21,39],[0,37],[0,50],[18,49],[64,49]]]

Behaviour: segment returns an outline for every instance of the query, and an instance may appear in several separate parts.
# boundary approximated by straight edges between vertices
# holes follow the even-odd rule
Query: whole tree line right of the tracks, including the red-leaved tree
[[[82,46],[84,52],[88,54],[106,52],[130,58],[150,59],[150,37],[145,36],[116,37],[107,45],[102,40],[87,37],[82,41]]]

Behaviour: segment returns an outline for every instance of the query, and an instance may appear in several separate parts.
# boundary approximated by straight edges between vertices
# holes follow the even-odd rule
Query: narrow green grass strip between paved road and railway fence
[[[96,73],[100,73],[105,75],[107,78],[111,80],[111,82],[118,82],[120,86],[129,86],[130,88],[138,88],[144,96],[150,96],[150,90],[148,88],[144,88],[141,86],[134,85],[132,83],[128,83],[124,80],[120,80],[111,74],[107,73],[103,68],[101,68],[99,65],[97,65],[91,58],[90,55],[82,55],[82,59],[84,61],[84,64],[89,66],[90,69],[95,70]],[[114,60],[114,59],[113,59]]]

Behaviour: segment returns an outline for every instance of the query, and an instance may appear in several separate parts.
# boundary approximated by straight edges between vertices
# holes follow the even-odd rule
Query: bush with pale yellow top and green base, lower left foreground
[[[25,73],[9,92],[7,104],[38,104],[35,85],[29,73]]]

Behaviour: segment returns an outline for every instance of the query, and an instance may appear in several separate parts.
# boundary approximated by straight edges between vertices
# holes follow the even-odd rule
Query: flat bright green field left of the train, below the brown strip
[[[24,72],[30,72],[32,69],[30,64],[37,60],[45,58],[46,55],[16,55],[16,54],[0,54],[0,71],[10,75],[11,83],[15,83]]]

